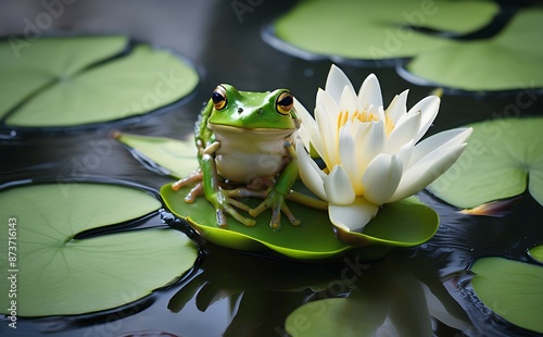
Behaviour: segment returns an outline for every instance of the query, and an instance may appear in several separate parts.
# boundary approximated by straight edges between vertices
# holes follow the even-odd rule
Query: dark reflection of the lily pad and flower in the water
[[[316,336],[327,329],[431,336],[438,325],[456,332],[470,326],[439,275],[403,253],[371,264],[356,253],[314,264],[209,248],[201,273],[168,309],[182,316],[192,298],[202,312],[227,302],[232,320],[226,336]]]

